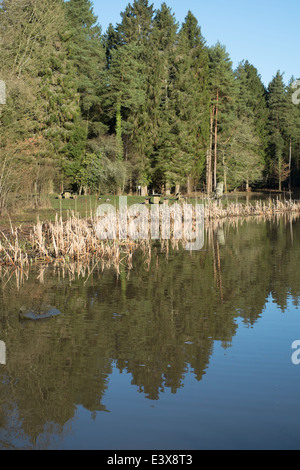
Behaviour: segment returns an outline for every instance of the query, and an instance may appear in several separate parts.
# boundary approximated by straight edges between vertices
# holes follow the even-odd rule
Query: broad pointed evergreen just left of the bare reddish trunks
[[[165,122],[169,125],[166,144],[166,180],[185,183],[192,190],[205,162],[207,143],[207,49],[200,27],[189,12],[178,34],[172,55],[171,83]],[[171,145],[170,145],[171,144]],[[168,154],[166,154],[167,156]]]

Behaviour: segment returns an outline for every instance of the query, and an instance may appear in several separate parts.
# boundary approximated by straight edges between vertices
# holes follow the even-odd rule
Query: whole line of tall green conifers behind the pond
[[[101,18],[100,18],[101,22]],[[268,88],[195,16],[134,0],[104,33],[89,0],[1,0],[0,210],[16,194],[211,193],[300,182],[292,77]]]

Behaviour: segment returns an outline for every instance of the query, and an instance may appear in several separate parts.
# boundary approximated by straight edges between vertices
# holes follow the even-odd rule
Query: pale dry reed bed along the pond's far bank
[[[145,206],[143,206],[145,208]],[[172,206],[170,206],[170,209]],[[184,208],[184,204],[182,205]],[[216,223],[226,219],[239,219],[249,216],[274,217],[282,214],[299,214],[300,201],[257,201],[255,204],[230,203],[227,206],[221,201],[210,201],[204,206],[203,217],[206,224]],[[170,236],[160,234],[161,249],[167,251],[169,242],[174,248],[185,247],[185,231],[183,230],[183,217],[175,217],[170,210]],[[108,220],[109,226],[119,221],[119,213],[116,218]],[[127,214],[128,223],[134,217]],[[131,217],[131,218],[130,218]],[[164,215],[160,213],[160,223]],[[151,211],[149,210],[149,227]],[[195,230],[195,211],[192,212],[192,227]],[[148,237],[143,239],[119,239],[119,227],[116,227],[116,237],[101,239],[99,237],[99,217],[79,217],[70,212],[67,220],[63,221],[58,215],[54,222],[43,223],[39,219],[29,232],[24,232],[21,227],[12,227],[9,234],[0,232],[0,264],[27,269],[32,264],[67,265],[77,262],[81,266],[101,264],[104,267],[113,266],[119,270],[120,265],[132,267],[132,257],[137,250],[142,250],[147,260],[151,259],[152,238],[149,231]],[[149,229],[150,230],[150,229]],[[180,240],[175,233],[182,233]],[[189,240],[190,241],[190,240]]]

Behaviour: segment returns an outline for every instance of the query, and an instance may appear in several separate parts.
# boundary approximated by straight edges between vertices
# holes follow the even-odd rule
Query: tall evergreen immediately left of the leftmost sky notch
[[[65,3],[68,28],[68,61],[76,69],[74,83],[79,93],[80,115],[71,139],[65,147],[65,173],[81,192],[81,165],[90,150],[92,139],[103,135],[107,128],[102,120],[101,81],[106,67],[101,27],[97,23],[90,0],[69,0]],[[84,173],[84,171],[83,171]]]

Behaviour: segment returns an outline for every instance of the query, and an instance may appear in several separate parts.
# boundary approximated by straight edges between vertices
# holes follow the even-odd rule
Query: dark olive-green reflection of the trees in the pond
[[[214,344],[230,347],[239,322],[253,326],[272,296],[298,305],[297,215],[215,222],[199,252],[154,244],[133,268],[68,265],[1,270],[0,447],[47,448],[82,406],[109,412],[114,369],[157,401],[200,382]],[[60,315],[20,321],[22,305]]]

